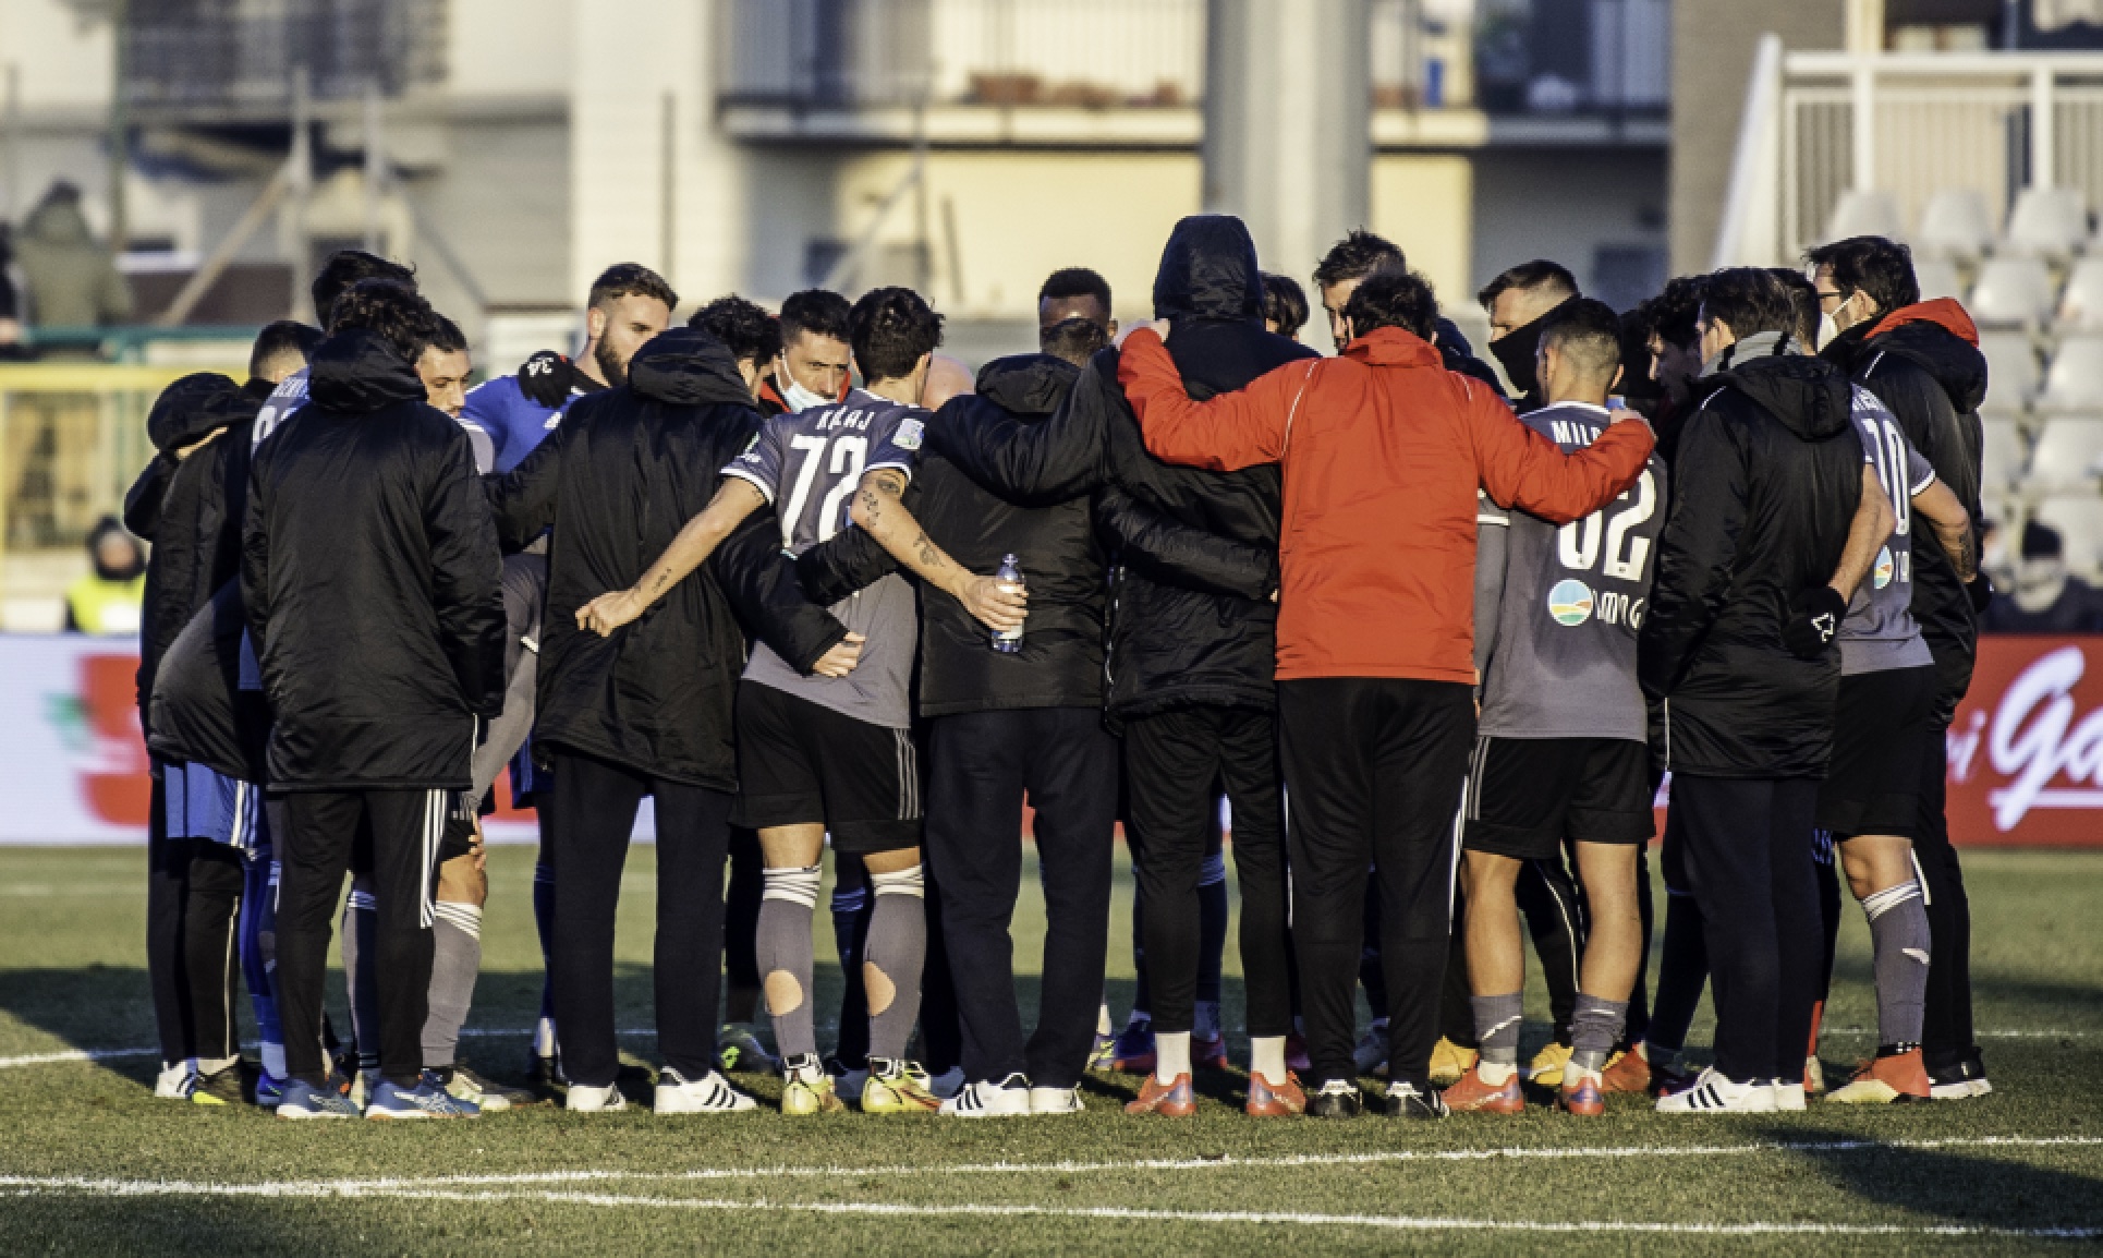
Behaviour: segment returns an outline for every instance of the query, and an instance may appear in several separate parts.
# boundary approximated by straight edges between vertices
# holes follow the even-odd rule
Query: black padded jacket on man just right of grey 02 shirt
[[[1861,501],[1851,385],[1830,362],[1752,358],[1701,381],[1642,623],[1642,688],[1663,701],[1661,768],[1823,776],[1840,652],[1783,646],[1790,604],[1840,564]]]

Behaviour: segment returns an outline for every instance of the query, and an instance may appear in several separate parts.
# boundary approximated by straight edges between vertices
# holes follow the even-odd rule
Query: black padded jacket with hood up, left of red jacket
[[[1285,362],[1314,356],[1264,330],[1255,244],[1226,215],[1176,225],[1155,278],[1155,316],[1171,322],[1169,358],[1192,398],[1239,389]],[[978,414],[944,414],[930,425],[930,448],[1016,503],[1064,501],[1108,486],[1173,524],[1239,547],[1232,568],[1243,576],[1226,587],[1171,576],[1152,562],[1117,562],[1108,661],[1115,719],[1190,705],[1277,703],[1277,604],[1262,589],[1264,574],[1274,574],[1279,547],[1277,465],[1220,473],[1171,467],[1148,454],[1117,383],[1115,349],[1089,362],[1049,421],[1001,429]]]

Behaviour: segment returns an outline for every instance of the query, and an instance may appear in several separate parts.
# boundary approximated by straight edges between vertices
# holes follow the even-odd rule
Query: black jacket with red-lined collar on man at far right
[[[1895,309],[1874,326],[1840,332],[1821,358],[1840,364],[1891,408],[1905,440],[1977,522],[1985,448],[1979,404],[1987,372],[1979,328],[1964,307],[1943,297]],[[1943,547],[1920,536],[1914,539],[1914,621],[1935,652],[1937,719],[1949,724],[1971,688],[1979,625],[1956,564]]]

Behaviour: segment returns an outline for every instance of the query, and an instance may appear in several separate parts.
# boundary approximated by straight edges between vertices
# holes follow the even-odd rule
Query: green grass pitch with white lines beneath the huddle
[[[616,976],[620,1024],[637,1031],[650,1027],[650,873],[652,852],[637,848]],[[532,852],[496,850],[490,875],[465,1048],[488,1073],[519,1077],[540,991]],[[1188,1121],[1127,1119],[1119,1107],[1136,1079],[1106,1077],[1085,1115],[1028,1121],[543,1107],[454,1123],[282,1123],[149,1096],[139,850],[0,850],[0,1254],[2088,1250],[2103,1239],[2103,854],[1973,852],[1966,879],[1998,1092],[1962,1104],[1813,1102],[1718,1119],[1613,1098],[1596,1121],[1548,1109],[1249,1121],[1241,1077],[1211,1075]],[[1119,1018],[1127,890],[1121,869]],[[1026,892],[1026,972],[1039,924]],[[1035,995],[1028,978],[1024,991]],[[1230,1037],[1237,995],[1230,976]],[[1535,989],[1529,1012],[1544,1008]],[[1842,1075],[1874,1046],[1853,907],[1825,1022],[1828,1071]],[[1529,1024],[1527,1052],[1544,1037]],[[1708,1041],[1706,1012],[1693,1039]],[[625,1035],[622,1050],[654,1060],[648,1033]],[[50,1054],[74,1058],[25,1060]],[[1232,1054],[1243,1060],[1239,1041]],[[763,1102],[778,1092],[738,1081]]]

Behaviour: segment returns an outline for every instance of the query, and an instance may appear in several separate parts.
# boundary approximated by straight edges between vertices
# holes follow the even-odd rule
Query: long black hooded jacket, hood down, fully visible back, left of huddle
[[[503,709],[496,530],[467,431],[364,330],[250,454],[242,597],[275,724],[273,791],[469,787]]]

